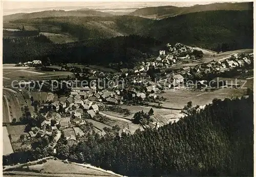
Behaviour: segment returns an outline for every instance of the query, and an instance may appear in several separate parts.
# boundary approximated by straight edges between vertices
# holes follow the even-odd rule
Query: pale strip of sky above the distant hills
[[[143,7],[156,7],[156,6],[193,6],[196,4],[210,4],[210,2],[134,2],[134,1],[3,1],[3,15],[10,15],[14,13],[31,13],[44,10],[74,10],[81,8],[90,9],[101,9],[100,11],[106,11],[106,9],[116,9],[116,8],[134,8],[128,11],[134,11],[135,8]],[[127,10],[126,10],[127,11]]]

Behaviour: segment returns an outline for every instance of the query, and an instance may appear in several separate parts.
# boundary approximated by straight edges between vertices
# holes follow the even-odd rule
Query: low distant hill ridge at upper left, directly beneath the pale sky
[[[16,19],[28,19],[28,18],[46,18],[57,16],[113,16],[112,14],[95,11],[95,10],[76,10],[76,11],[64,11],[64,10],[49,10],[33,13],[18,13],[12,15],[6,15],[3,17],[4,23],[10,20]]]

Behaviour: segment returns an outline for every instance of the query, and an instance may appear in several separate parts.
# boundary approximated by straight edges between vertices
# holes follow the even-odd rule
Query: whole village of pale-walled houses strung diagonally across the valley
[[[134,99],[140,98],[143,100],[146,97],[156,99],[157,93],[160,90],[175,87],[183,83],[184,78],[193,77],[196,73],[203,75],[208,73],[224,73],[234,68],[243,67],[246,64],[249,65],[253,59],[253,54],[234,54],[224,60],[201,63],[194,68],[184,67],[180,71],[176,71],[176,73],[165,73],[157,82],[154,82],[146,73],[150,67],[168,68],[169,65],[175,64],[176,60],[180,58],[179,54],[182,53],[184,55],[185,53],[185,57],[191,59],[190,54],[194,52],[194,49],[183,46],[181,43],[177,43],[174,47],[167,44],[167,47],[169,48],[168,53],[161,50],[159,51],[159,57],[155,61],[142,62],[139,67],[133,70],[121,69],[120,72],[114,74],[97,73],[90,70],[88,73],[90,77],[88,78],[93,81],[90,87],[72,87],[68,97],[61,97],[62,99],[52,103],[39,104],[40,108],[52,109],[55,112],[51,114],[47,112],[45,121],[41,123],[41,126],[31,128],[29,131],[30,137],[36,137],[38,134],[40,137],[49,136],[52,135],[51,130],[84,124],[85,121],[82,119],[84,114],[93,118],[99,111],[99,106],[103,103],[122,104],[126,101],[127,95]],[[37,60],[31,63],[37,63]],[[112,81],[105,86],[97,83],[100,78]],[[119,83],[120,80],[122,84]],[[60,109],[61,113],[63,113],[61,115],[56,113]],[[56,123],[53,125],[51,120],[55,120],[54,122]],[[51,128],[49,129],[49,127]],[[72,137],[69,138],[72,140]]]

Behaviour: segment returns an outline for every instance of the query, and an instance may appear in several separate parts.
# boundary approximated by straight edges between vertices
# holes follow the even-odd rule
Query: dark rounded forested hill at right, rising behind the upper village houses
[[[213,51],[223,44],[225,51],[253,48],[253,11],[205,11],[155,20],[144,34]]]

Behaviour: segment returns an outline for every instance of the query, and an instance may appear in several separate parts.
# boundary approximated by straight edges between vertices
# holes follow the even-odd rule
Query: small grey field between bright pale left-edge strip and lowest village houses
[[[31,148],[30,144],[22,144],[19,142],[20,135],[27,135],[28,133],[24,132],[25,125],[11,125],[7,126],[7,130],[9,135],[11,136],[11,144],[13,147],[14,152],[18,151],[19,149],[29,149]]]

